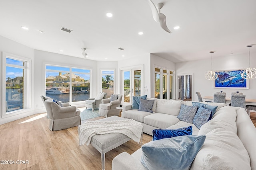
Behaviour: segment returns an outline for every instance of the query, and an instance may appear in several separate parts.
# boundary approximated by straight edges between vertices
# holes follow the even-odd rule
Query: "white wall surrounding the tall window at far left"
[[[2,68],[2,57],[3,57],[2,52],[6,52],[6,53],[14,54],[14,55],[17,55],[20,57],[25,57],[25,58],[31,59],[31,61],[32,61],[32,66],[31,66],[32,77],[34,77],[34,72],[33,72],[33,70],[34,70],[34,49],[0,36],[0,52],[1,52],[1,59],[0,59],[1,72],[2,72],[2,69],[4,69],[4,68]],[[3,81],[2,78],[0,80],[0,83],[1,83],[1,87],[5,86],[5,81]],[[32,81],[32,92],[33,91],[34,91],[34,82]],[[1,96],[5,95],[2,92],[2,88],[0,89],[0,94],[1,94]],[[5,106],[2,106],[2,102],[0,102],[0,111],[2,111],[2,107],[5,107]],[[34,96],[32,95],[32,110],[33,109],[34,109]],[[13,121],[16,119],[20,119],[22,117],[26,117],[26,116],[32,115],[32,114],[34,114],[34,111],[28,111],[26,113],[13,115],[11,117],[6,117],[4,119],[2,119],[2,117],[1,117],[0,124],[7,123],[7,122],[10,122],[10,121]],[[1,115],[2,115],[2,113],[1,113]]]

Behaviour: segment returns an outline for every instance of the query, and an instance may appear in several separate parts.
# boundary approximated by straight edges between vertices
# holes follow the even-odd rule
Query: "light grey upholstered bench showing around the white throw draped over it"
[[[111,116],[97,121],[113,121],[124,120],[122,117]],[[78,126],[78,134],[80,134],[80,126]],[[143,130],[142,130],[143,134]],[[131,139],[122,133],[109,133],[103,135],[94,135],[90,141],[90,144],[101,153],[102,170],[105,169],[105,153],[119,147],[120,145],[130,141]],[[140,139],[140,145],[142,145],[142,135]]]

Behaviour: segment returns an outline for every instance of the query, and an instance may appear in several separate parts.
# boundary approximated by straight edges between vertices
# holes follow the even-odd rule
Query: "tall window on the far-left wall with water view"
[[[5,95],[3,98],[5,99],[6,107],[3,108],[2,115],[31,107],[31,101],[28,97],[30,84],[29,64],[30,59],[3,53],[3,68],[5,68],[2,70],[3,78],[5,79],[5,86],[3,87],[3,94]]]

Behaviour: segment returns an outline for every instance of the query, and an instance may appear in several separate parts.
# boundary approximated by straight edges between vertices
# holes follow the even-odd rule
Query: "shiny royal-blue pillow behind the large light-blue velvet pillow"
[[[192,126],[179,129],[154,129],[153,141],[176,136],[192,135]]]

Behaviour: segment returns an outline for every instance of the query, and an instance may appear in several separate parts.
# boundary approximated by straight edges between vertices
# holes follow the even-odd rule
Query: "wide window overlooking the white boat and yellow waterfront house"
[[[90,72],[89,69],[46,64],[46,96],[63,103],[88,100],[90,98]]]

